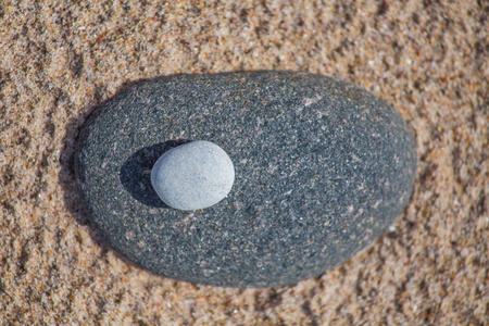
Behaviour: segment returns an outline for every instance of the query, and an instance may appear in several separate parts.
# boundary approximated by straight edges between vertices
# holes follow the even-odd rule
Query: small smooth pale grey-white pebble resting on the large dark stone
[[[151,184],[171,208],[193,211],[223,200],[235,181],[235,167],[217,145],[196,140],[165,152],[151,170]]]

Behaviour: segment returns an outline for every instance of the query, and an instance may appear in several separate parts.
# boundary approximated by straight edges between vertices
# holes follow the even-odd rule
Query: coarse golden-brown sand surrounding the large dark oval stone
[[[415,130],[411,203],[296,286],[165,279],[108,250],[75,191],[79,127],[125,83],[308,71]],[[489,2],[0,1],[0,325],[488,325]]]

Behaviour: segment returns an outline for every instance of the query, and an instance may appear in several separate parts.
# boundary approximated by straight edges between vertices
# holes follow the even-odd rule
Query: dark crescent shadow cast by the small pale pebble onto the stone
[[[145,205],[170,209],[158,197],[151,185],[151,168],[163,153],[187,142],[190,142],[190,140],[168,140],[138,150],[121,167],[121,184],[134,199]]]

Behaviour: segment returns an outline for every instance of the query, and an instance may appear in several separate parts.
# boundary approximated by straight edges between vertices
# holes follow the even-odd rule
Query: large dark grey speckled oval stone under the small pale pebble
[[[218,205],[158,208],[131,196],[150,197],[148,185],[124,187],[145,171],[124,168],[135,153],[178,139],[214,141],[231,158],[234,189]],[[349,259],[405,206],[416,165],[413,136],[385,101],[290,72],[133,85],[87,122],[76,160],[90,218],[117,251],[160,275],[227,287],[293,284]]]

